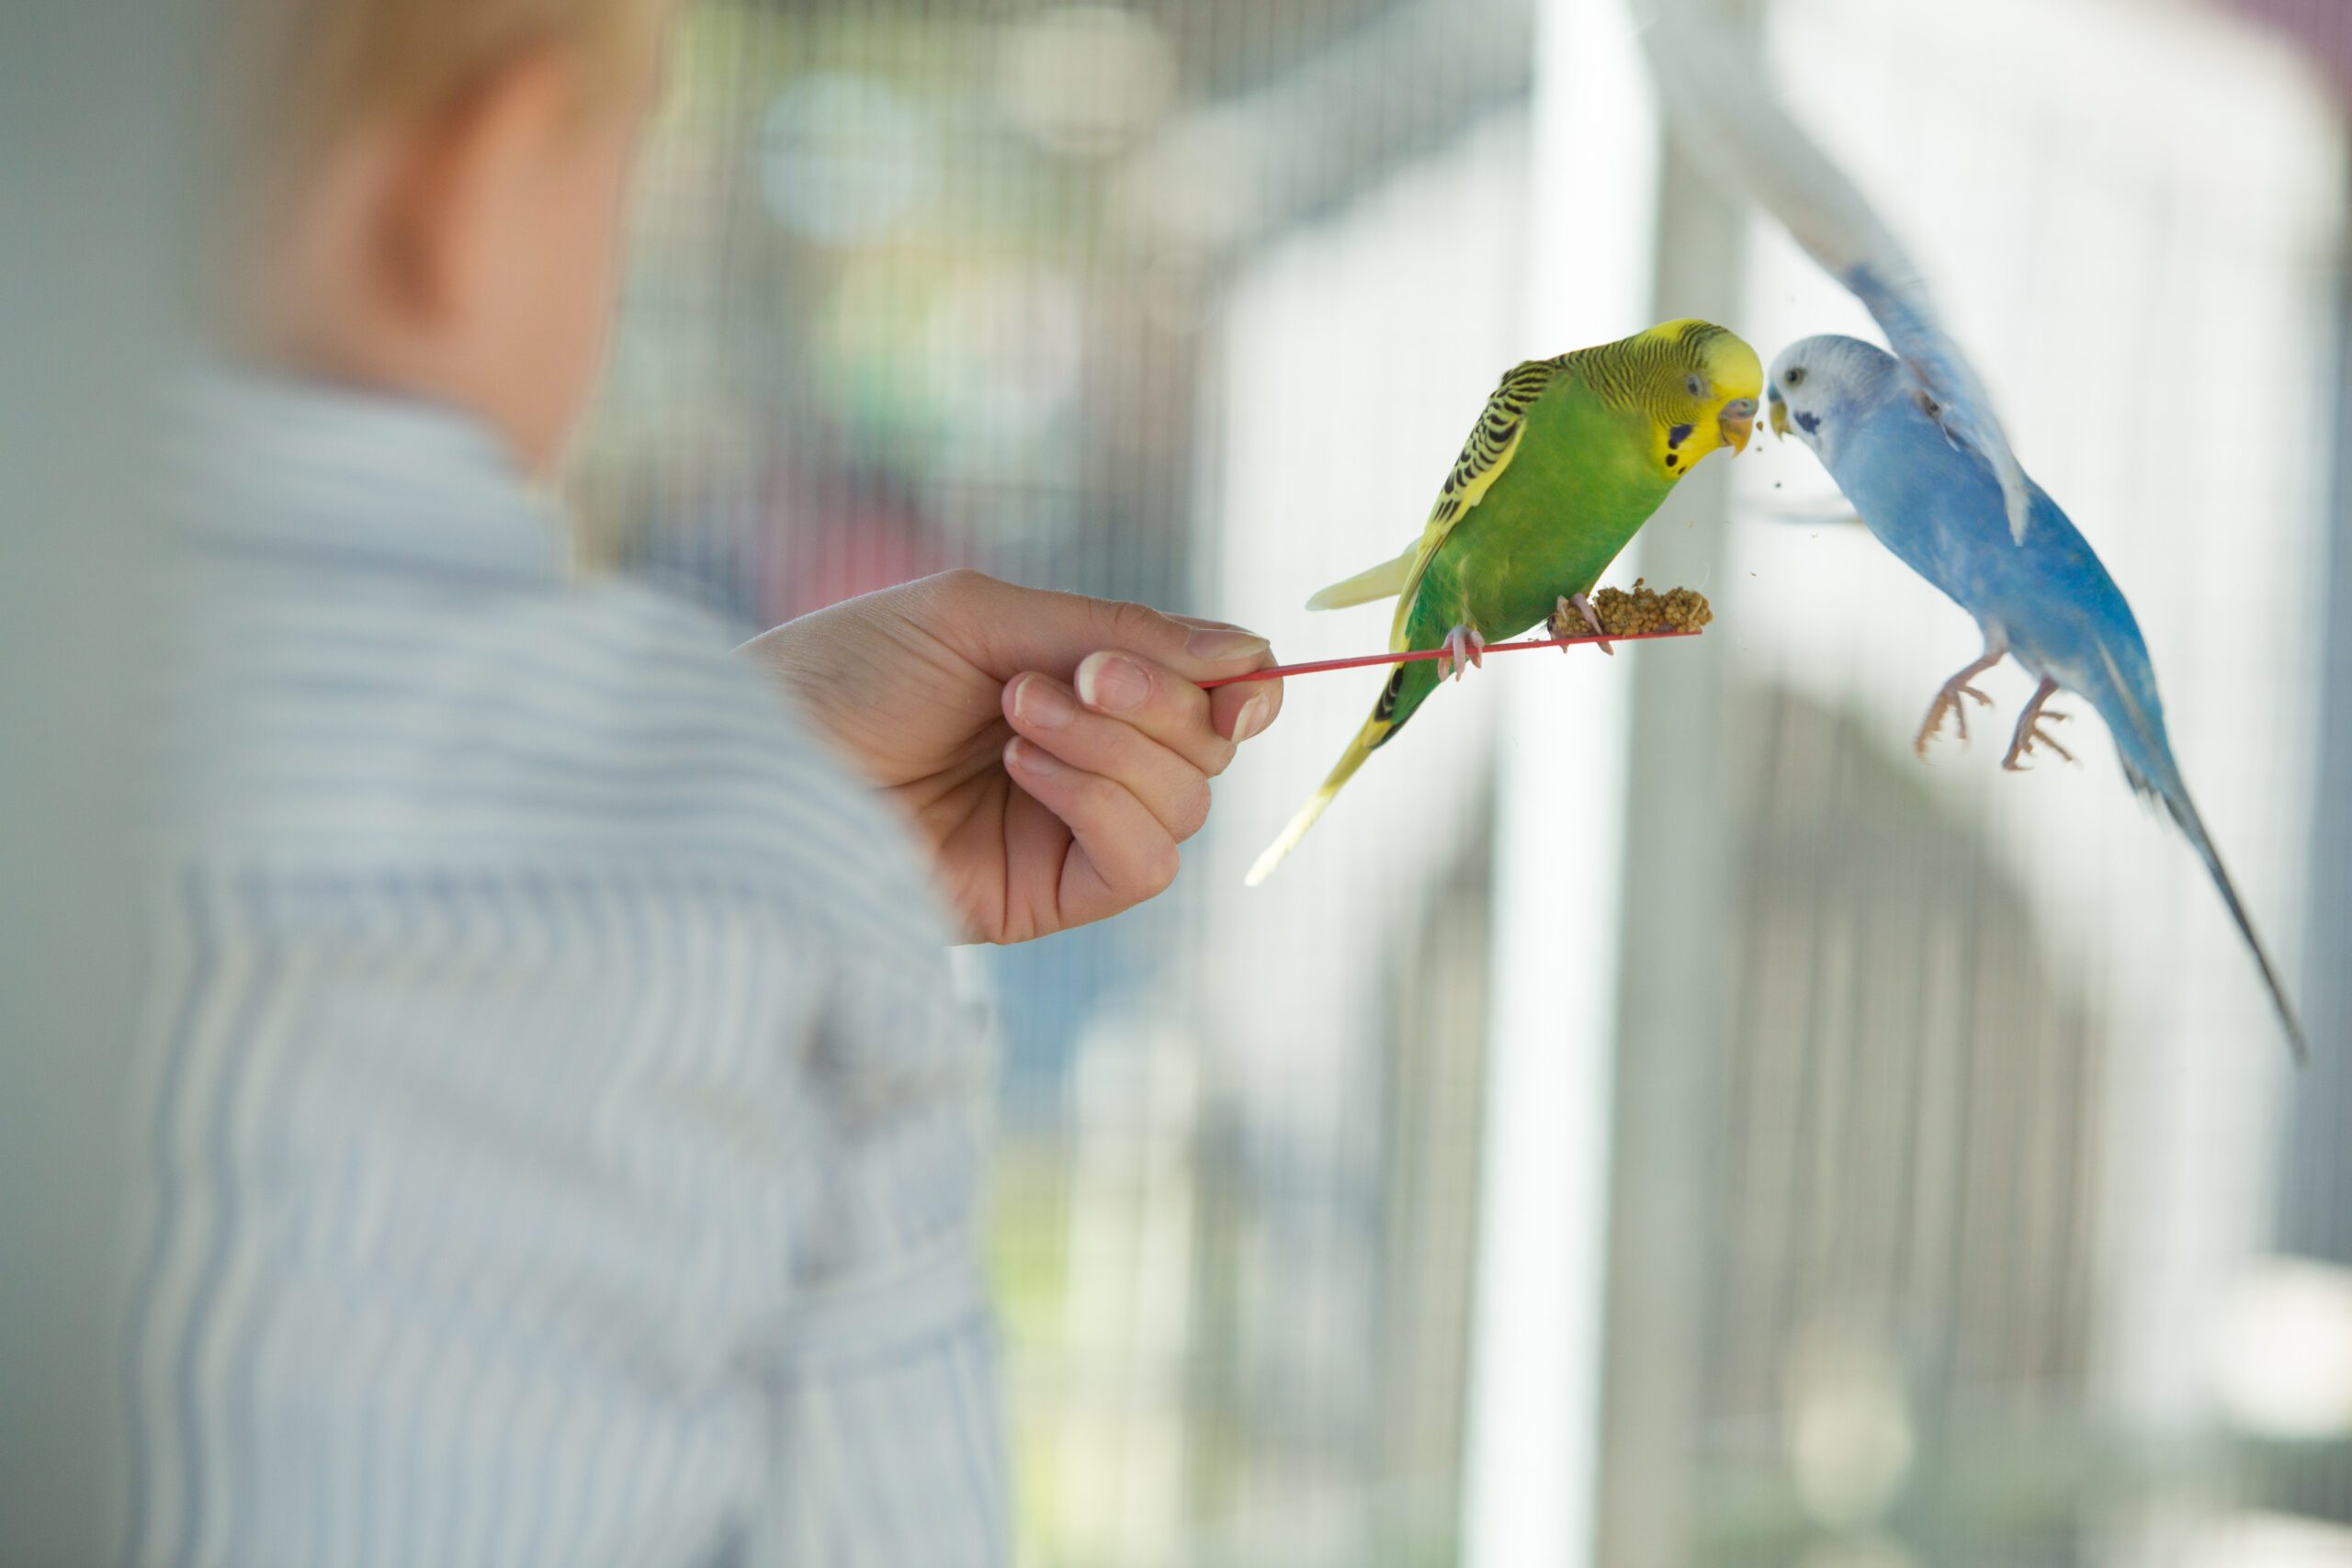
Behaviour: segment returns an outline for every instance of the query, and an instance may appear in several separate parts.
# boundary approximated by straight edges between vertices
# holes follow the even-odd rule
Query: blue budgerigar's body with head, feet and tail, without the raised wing
[[[1985,635],[1983,656],[1947,679],[1929,705],[1915,741],[1919,755],[1926,757],[1926,743],[1947,717],[1962,738],[1969,736],[1966,703],[1992,701],[1971,682],[2004,656],[2042,682],[2018,715],[2004,766],[2020,769],[2037,748],[2072,759],[2046,729],[2063,717],[2046,703],[2060,689],[2089,701],[2114,736],[2131,788],[2164,804],[2213,872],[2213,886],[2263,966],[2286,1041],[2303,1060],[2303,1027],[2286,987],[2173,759],[2140,625],[2058,503],[2025,480],[2030,515],[2023,543],[2013,541],[1992,463],[1950,440],[1910,367],[1872,343],[1804,339],[1773,362],[1764,400],[1771,428],[1811,447],[1870,531],[1976,616]]]

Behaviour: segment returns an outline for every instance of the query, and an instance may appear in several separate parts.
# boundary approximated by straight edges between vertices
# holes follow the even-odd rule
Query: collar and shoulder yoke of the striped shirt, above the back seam
[[[562,517],[480,421],[247,371],[176,409],[158,771],[181,844],[372,879],[708,870],[920,926],[887,806],[720,618],[574,578]]]

